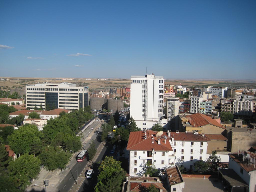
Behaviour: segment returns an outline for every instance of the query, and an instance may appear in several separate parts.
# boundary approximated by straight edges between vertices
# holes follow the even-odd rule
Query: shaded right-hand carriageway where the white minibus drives
[[[102,162],[102,160],[105,158],[105,156],[115,156],[115,154],[110,154],[110,151],[112,150],[112,145],[107,142],[106,145],[103,147],[101,153],[99,154],[96,162]],[[98,176],[98,172],[96,168],[93,168],[94,174],[93,174],[93,178],[91,179],[84,179],[83,184],[81,185],[81,187],[79,188],[78,192],[90,192],[93,191],[94,186],[97,184],[97,176]]]

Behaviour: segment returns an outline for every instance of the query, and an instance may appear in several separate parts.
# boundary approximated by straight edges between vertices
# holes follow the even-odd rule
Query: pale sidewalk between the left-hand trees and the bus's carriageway
[[[100,124],[97,124],[97,127],[100,126]],[[86,130],[90,129],[87,127]],[[92,136],[94,134],[94,129],[90,130],[90,132],[85,133],[84,131],[84,138],[82,139],[82,144],[83,143],[90,143],[90,140],[92,139]],[[102,145],[102,144],[101,144]],[[99,146],[99,148],[101,147]],[[66,169],[59,170],[56,169],[54,171],[51,171],[51,173],[46,170],[45,168],[42,168],[40,173],[38,174],[37,178],[33,181],[31,181],[31,184],[26,188],[25,191],[44,191],[44,180],[48,179],[49,180],[49,186],[47,186],[47,192],[58,192],[57,186],[61,182],[61,180],[66,176],[67,173],[70,172],[70,169],[76,164],[76,154],[74,153],[71,157],[71,161],[69,161],[68,165],[66,166]]]

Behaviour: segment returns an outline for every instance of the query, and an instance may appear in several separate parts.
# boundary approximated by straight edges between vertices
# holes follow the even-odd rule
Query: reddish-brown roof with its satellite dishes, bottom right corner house
[[[235,162],[237,162],[238,165],[240,165],[244,170],[247,172],[256,170],[256,167],[254,166],[256,153],[252,153],[249,151],[240,151],[236,153],[228,154]],[[248,159],[250,158],[251,164],[248,163]],[[253,163],[254,162],[254,163]]]

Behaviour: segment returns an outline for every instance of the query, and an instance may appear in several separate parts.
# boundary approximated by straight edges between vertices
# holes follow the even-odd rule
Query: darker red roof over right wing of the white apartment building
[[[167,132],[164,132],[163,135],[166,135],[168,137]],[[188,133],[186,133],[186,132],[179,132],[179,133],[171,132],[170,136],[174,138],[174,141],[209,141],[208,138],[203,137],[198,134],[194,134],[192,132],[188,132]],[[170,139],[170,138],[168,138],[168,139]]]

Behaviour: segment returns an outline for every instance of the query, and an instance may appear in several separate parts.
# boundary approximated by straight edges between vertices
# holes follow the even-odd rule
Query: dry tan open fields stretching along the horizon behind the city
[[[2,77],[6,78],[6,77]],[[9,78],[9,77],[8,77]],[[60,83],[60,82],[68,82],[68,83],[76,83],[79,86],[88,86],[90,89],[109,89],[112,87],[129,87],[130,79],[112,79],[107,81],[98,81],[97,79],[92,79],[91,81],[87,81],[85,79],[75,79],[72,81],[61,81],[55,80],[53,78],[24,78],[24,77],[12,77],[10,81],[0,81],[1,89],[6,90],[12,87],[25,87],[26,84],[35,84],[35,83]],[[219,86],[219,87],[251,87],[256,88],[256,80],[218,80],[218,79],[172,79],[165,80],[165,84],[177,85],[182,84],[187,87],[191,86]]]

